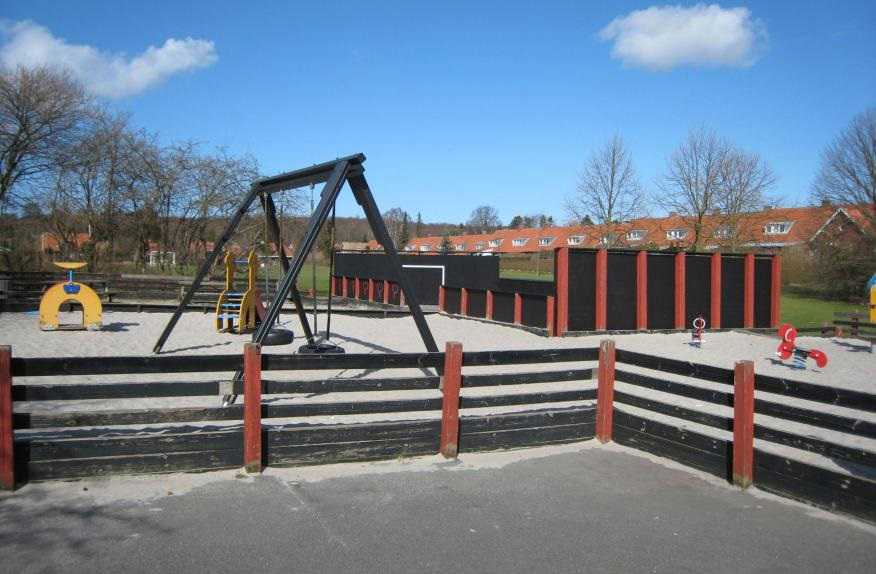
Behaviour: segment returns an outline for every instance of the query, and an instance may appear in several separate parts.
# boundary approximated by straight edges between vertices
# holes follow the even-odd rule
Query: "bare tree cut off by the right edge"
[[[813,195],[865,208],[870,230],[876,230],[876,108],[855,116],[824,150]]]

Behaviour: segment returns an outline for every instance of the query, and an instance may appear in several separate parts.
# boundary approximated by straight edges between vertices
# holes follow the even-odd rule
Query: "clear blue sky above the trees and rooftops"
[[[722,3],[748,10],[753,48],[665,66],[642,63],[647,46],[613,57],[618,38],[600,37],[615,18],[667,6],[653,2],[180,4],[30,0],[0,18],[7,39],[31,21],[127,58],[169,38],[210,41],[201,65],[159,64],[161,81],[110,105],[166,140],[253,154],[266,174],[364,152],[381,209],[429,221],[464,221],[483,203],[506,222],[564,220],[584,161],[614,133],[653,190],[700,125],[760,153],[776,193],[802,204],[823,147],[876,105],[874,2]],[[700,54],[710,41],[691,40]],[[349,194],[339,213],[357,213]]]

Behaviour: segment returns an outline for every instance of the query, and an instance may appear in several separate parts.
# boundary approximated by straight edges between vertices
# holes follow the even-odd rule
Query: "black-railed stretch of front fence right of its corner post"
[[[876,521],[876,450],[858,446],[860,441],[854,439],[876,439],[876,424],[866,420],[867,413],[876,412],[876,395],[754,375],[753,369],[750,381],[746,381],[738,370],[624,350],[618,350],[614,356],[617,363],[640,367],[648,373],[612,368],[611,398],[617,404],[617,409],[613,412],[611,431],[602,432],[608,432],[613,440],[722,478],[737,480],[742,473],[743,478],[747,477],[749,482],[764,490]],[[670,379],[663,373],[683,378],[684,381]],[[723,391],[714,386],[697,384],[697,380],[733,387]],[[616,390],[614,381],[662,394]],[[603,394],[602,386],[600,380],[600,395]],[[750,398],[747,408],[744,407],[744,399],[743,404],[739,403],[740,389],[747,392]],[[704,408],[693,401],[674,400],[673,396],[733,407],[733,416],[721,414],[721,409]],[[781,400],[782,397],[815,404],[808,408],[799,407],[787,404]],[[818,404],[842,407],[849,414],[825,412],[818,409]],[[639,410],[628,412],[624,406]],[[611,402],[606,406],[600,403],[600,409],[611,409]],[[643,416],[641,411],[671,417],[669,420],[689,421],[719,432],[713,434],[699,431],[695,426],[690,428],[690,425],[670,424],[666,419]],[[830,439],[820,438],[814,429],[791,431],[788,427],[782,428],[784,425],[779,421],[755,421],[755,414],[838,431],[849,435],[849,438],[844,440],[842,436],[830,433]],[[597,414],[598,420],[600,416]],[[746,416],[750,419],[746,420]],[[726,431],[733,432],[733,440],[721,438]],[[599,434],[597,427],[597,436]],[[755,447],[754,439],[761,446]],[[741,446],[738,444],[740,440],[743,441]],[[782,454],[777,454],[775,448],[768,448],[769,444],[779,446],[778,452]],[[827,457],[846,472],[813,463],[802,454],[794,454],[796,451]]]

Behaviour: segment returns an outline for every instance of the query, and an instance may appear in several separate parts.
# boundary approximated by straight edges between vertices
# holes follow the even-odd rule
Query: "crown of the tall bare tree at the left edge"
[[[48,68],[0,72],[0,203],[45,174],[78,136],[89,99],[69,75]]]

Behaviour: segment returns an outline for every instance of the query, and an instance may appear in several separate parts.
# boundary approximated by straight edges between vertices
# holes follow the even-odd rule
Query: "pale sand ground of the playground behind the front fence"
[[[152,346],[169,318],[169,313],[136,313],[108,311],[104,313],[104,329],[100,332],[67,331],[67,332],[42,332],[37,326],[37,318],[33,313],[3,313],[0,315],[0,344],[8,344],[13,348],[13,355],[17,357],[74,357],[85,356],[99,357],[116,355],[150,355]],[[62,317],[62,322],[68,320]],[[746,332],[720,332],[708,333],[706,341],[701,348],[690,344],[690,335],[686,333],[658,334],[636,333],[624,335],[590,335],[581,337],[546,338],[525,330],[503,326],[494,323],[485,323],[464,318],[451,317],[442,314],[427,316],[432,333],[443,349],[447,341],[460,341],[467,351],[485,350],[510,350],[510,349],[545,349],[560,347],[595,347],[600,340],[613,338],[620,349],[627,349],[651,355],[675,358],[696,363],[704,363],[724,368],[732,368],[739,360],[751,360],[755,363],[755,372],[784,377],[798,381],[807,381],[820,385],[837,388],[853,389],[858,391],[876,393],[876,354],[869,352],[869,343],[852,339],[826,339],[817,337],[801,337],[798,344],[801,347],[815,347],[822,349],[829,356],[830,362],[824,369],[816,368],[811,362],[806,369],[794,369],[791,361],[781,362],[775,356],[778,339],[767,335],[758,335]],[[298,320],[294,316],[284,316],[283,326],[301,333]],[[319,328],[325,327],[325,317],[320,316]],[[423,343],[419,337],[413,320],[410,317],[374,318],[349,315],[335,315],[332,318],[332,340],[343,346],[348,353],[397,353],[397,352],[422,352]],[[213,317],[210,314],[190,312],[182,316],[173,334],[168,339],[164,353],[167,355],[208,355],[208,354],[236,354],[242,352],[243,344],[250,340],[246,335],[234,335],[217,333],[213,329]],[[285,347],[266,347],[265,353],[292,353],[298,348],[303,340],[296,339],[292,345]],[[571,368],[593,368],[592,362],[574,365]],[[500,367],[476,367],[466,368],[468,373],[483,372],[528,372],[537,370],[560,370],[570,368],[570,365],[509,365]],[[624,365],[624,369],[636,371],[638,367]],[[266,373],[266,378],[271,379],[314,379],[314,378],[363,378],[363,377],[389,377],[411,376],[415,374],[434,374],[427,369],[385,369],[380,371],[346,370],[346,371],[271,371]],[[661,373],[661,377],[678,379],[681,377]],[[16,383],[74,383],[74,382],[108,382],[135,380],[133,375],[115,376],[88,376],[88,377],[57,377],[51,381],[45,378],[19,378]],[[184,373],[184,374],[157,374],[137,375],[136,380],[217,380],[225,378],[222,373]],[[688,383],[703,387],[720,388],[726,391],[727,386],[708,381],[683,379]],[[542,383],[502,387],[481,387],[463,389],[463,396],[477,396],[484,394],[513,394],[532,393],[539,391],[564,391],[582,388],[594,388],[595,381],[587,379],[583,381]],[[650,391],[632,385],[618,383],[619,390],[630,394],[654,400],[669,401],[674,404],[684,404],[689,408],[695,408],[706,412],[729,415],[730,410],[720,405],[712,405],[699,401],[684,399],[675,396],[661,396],[662,393]],[[845,416],[853,416],[859,420],[876,422],[876,414],[861,411],[852,411],[842,407],[811,403],[791,399],[784,396],[769,396],[761,393],[771,400],[786,404],[795,404],[804,408],[811,408],[821,412],[833,412]],[[425,391],[381,391],[370,393],[326,393],[320,395],[271,395],[265,397],[265,401],[274,403],[298,403],[315,401],[320,403],[332,401],[358,401],[358,400],[393,400],[408,398],[440,397],[438,390]],[[102,409],[148,409],[184,406],[215,406],[217,397],[184,397],[165,399],[123,399],[123,400],[94,400],[94,401],[47,401],[43,403],[25,403],[16,408],[27,409],[32,412],[58,412],[70,410],[102,410]],[[560,408],[584,404],[585,402],[572,403],[545,403],[542,405],[519,405],[510,407],[496,407],[490,409],[468,409],[467,414],[484,414],[486,412],[509,412],[515,410],[527,410],[534,408]],[[621,407],[634,410],[632,407]],[[285,419],[271,419],[268,424],[288,424],[290,422],[306,424],[338,424],[347,422],[367,422],[386,420],[409,420],[413,418],[437,418],[439,412],[413,412],[413,413],[379,413],[371,415],[335,415],[307,417],[289,421]],[[649,418],[661,418],[656,413],[647,413]],[[719,433],[726,435],[724,431],[702,428],[699,425],[676,419],[675,424],[707,433]],[[784,429],[795,433],[818,437],[823,440],[838,442],[876,452],[876,440],[858,436],[829,431],[818,427],[801,425],[781,419],[773,419],[757,415],[757,423],[778,429]],[[224,424],[224,423],[222,423]],[[235,424],[235,423],[229,423]],[[121,429],[119,429],[121,430]],[[791,451],[785,446],[776,446],[764,441],[758,441],[758,446],[769,450],[780,449]],[[826,467],[836,468],[836,464],[830,459],[806,453],[795,452],[796,458],[804,457],[810,462],[822,464]],[[823,459],[823,460],[822,460]]]

